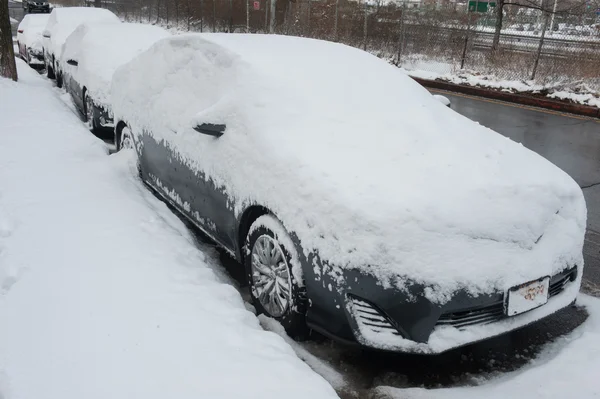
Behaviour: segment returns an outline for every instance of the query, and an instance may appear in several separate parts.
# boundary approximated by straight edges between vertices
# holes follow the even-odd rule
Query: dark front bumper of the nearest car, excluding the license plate
[[[443,305],[430,302],[425,287],[384,288],[371,276],[346,270],[344,287],[334,292],[327,275],[307,284],[307,320],[333,338],[398,352],[441,353],[524,327],[569,306],[581,285],[580,268],[552,276],[545,305],[508,317],[504,293],[472,297],[457,292]],[[340,276],[338,276],[340,277]],[[306,280],[307,282],[310,279]]]

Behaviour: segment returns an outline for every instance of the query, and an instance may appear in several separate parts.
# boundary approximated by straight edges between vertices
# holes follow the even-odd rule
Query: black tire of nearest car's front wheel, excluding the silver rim
[[[256,245],[257,240],[262,236],[271,237],[277,245],[279,245],[279,248],[283,252],[291,279],[291,300],[288,302],[285,313],[281,316],[274,316],[265,309],[257,297],[257,289],[254,286],[254,279],[252,276],[252,250]],[[246,268],[248,285],[250,287],[250,297],[252,298],[252,303],[256,308],[257,313],[264,314],[277,320],[285,328],[290,337],[297,340],[303,340],[308,337],[310,332],[306,325],[306,288],[304,287],[304,282],[297,281],[296,276],[294,276],[292,271],[292,265],[299,264],[299,260],[292,258],[292,254],[296,254],[296,250],[295,248],[288,248],[290,245],[293,246],[292,240],[281,222],[272,215],[261,216],[252,224],[248,236],[246,237],[244,246],[244,265]],[[297,258],[297,255],[293,256]]]

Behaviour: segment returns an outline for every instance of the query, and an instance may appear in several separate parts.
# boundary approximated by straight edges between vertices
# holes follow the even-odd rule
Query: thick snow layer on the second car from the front
[[[95,102],[109,104],[114,71],[169,35],[152,25],[81,24],[63,45],[62,69],[86,87]],[[67,65],[67,60],[76,60],[79,65]]]

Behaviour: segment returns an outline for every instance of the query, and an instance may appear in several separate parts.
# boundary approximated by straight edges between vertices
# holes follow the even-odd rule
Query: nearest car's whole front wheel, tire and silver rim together
[[[272,215],[259,217],[250,226],[244,253],[257,313],[279,321],[292,338],[306,339],[306,289],[292,271],[292,265],[299,264],[298,255],[281,222]]]

